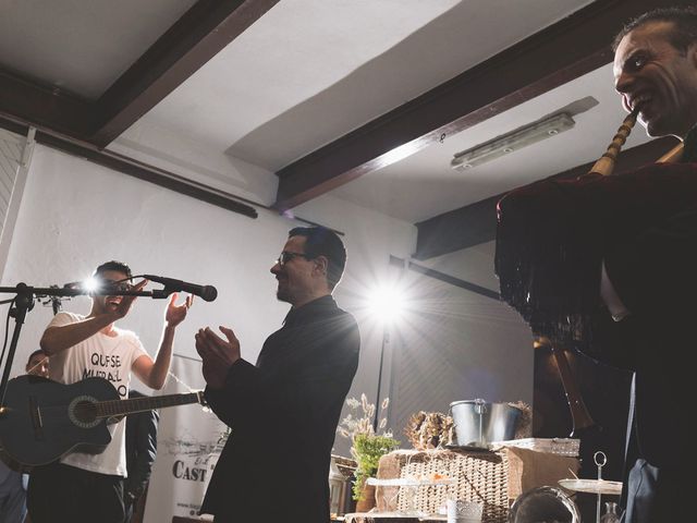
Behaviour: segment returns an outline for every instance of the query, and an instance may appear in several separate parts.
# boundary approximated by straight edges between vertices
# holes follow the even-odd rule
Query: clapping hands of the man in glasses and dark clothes
[[[213,389],[225,385],[225,377],[233,363],[240,360],[240,341],[232,329],[219,327],[228,341],[216,335],[210,327],[198,329],[196,351],[204,361],[204,378]]]

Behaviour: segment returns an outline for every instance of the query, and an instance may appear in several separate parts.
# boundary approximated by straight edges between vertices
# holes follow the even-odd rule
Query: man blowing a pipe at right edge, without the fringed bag
[[[697,177],[697,9],[656,10],[615,39],[615,88],[649,136],[683,141],[682,165],[656,170],[656,186]],[[650,173],[649,173],[650,174]],[[629,173],[636,175],[636,173]],[[620,177],[622,178],[622,175]],[[651,179],[650,177],[647,179]],[[685,191],[694,195],[692,190]],[[625,479],[626,523],[694,521],[689,414],[695,345],[697,198],[603,253],[609,321],[591,348],[634,372]]]

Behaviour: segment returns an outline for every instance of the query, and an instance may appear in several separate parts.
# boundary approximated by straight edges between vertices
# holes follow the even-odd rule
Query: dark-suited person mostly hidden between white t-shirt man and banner
[[[131,389],[129,398],[145,398]],[[157,426],[160,415],[157,411],[138,412],[126,416],[126,471],[123,485],[123,504],[130,523],[138,500],[145,492],[157,454]]]

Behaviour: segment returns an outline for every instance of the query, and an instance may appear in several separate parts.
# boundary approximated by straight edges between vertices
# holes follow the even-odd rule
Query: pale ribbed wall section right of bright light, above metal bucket
[[[457,400],[533,405],[533,339],[514,311],[449,283],[405,279],[415,299],[389,338],[394,428]]]

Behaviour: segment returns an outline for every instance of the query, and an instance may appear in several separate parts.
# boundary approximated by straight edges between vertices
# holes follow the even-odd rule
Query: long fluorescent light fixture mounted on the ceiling
[[[481,145],[455,154],[450,166],[458,171],[472,169],[570,130],[574,119],[566,112],[516,129]]]

